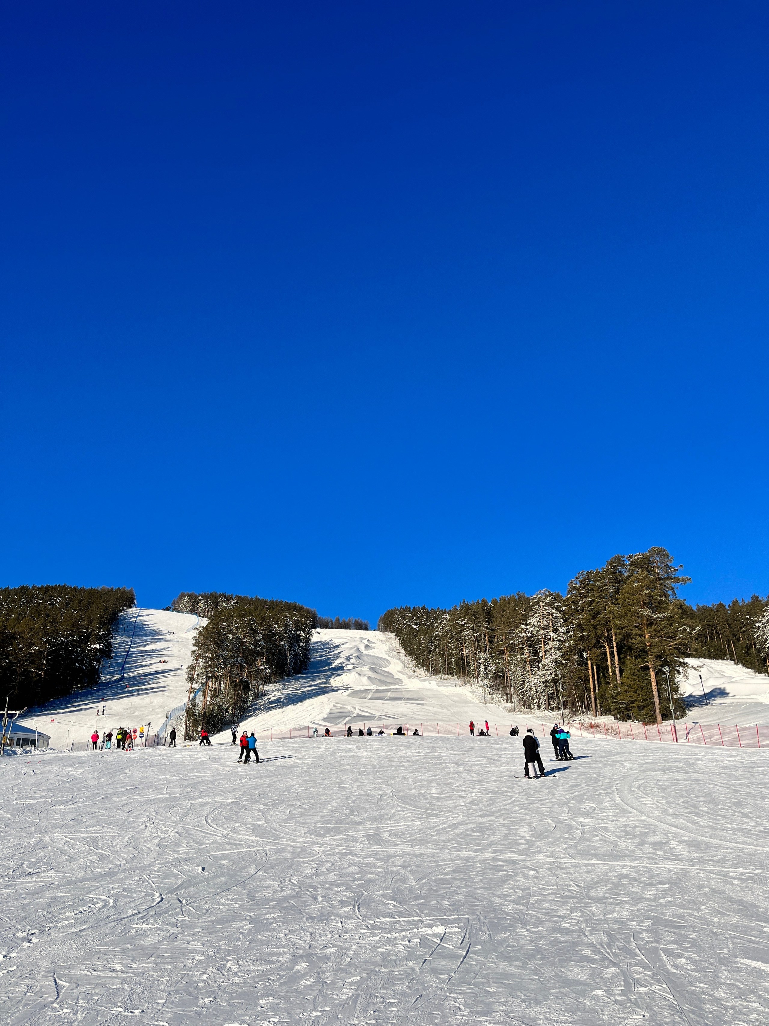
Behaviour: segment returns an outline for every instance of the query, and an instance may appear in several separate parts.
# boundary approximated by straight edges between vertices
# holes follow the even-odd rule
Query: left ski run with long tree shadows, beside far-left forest
[[[184,668],[199,623],[183,613],[127,609],[113,634],[113,658],[103,667],[100,685],[33,709],[22,721],[50,735],[53,748],[87,741],[94,728],[103,734],[151,723],[156,732],[166,713],[187,700]]]

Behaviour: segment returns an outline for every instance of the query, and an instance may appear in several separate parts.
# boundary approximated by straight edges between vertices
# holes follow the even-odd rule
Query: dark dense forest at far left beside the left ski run
[[[26,707],[97,683],[113,625],[133,604],[131,588],[0,589],[0,697]]]

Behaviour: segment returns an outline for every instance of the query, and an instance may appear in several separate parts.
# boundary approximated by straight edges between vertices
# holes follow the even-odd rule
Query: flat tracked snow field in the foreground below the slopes
[[[0,1021],[764,1026],[769,752],[572,747],[6,756]]]

